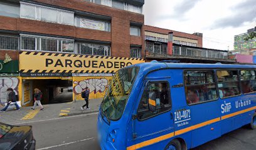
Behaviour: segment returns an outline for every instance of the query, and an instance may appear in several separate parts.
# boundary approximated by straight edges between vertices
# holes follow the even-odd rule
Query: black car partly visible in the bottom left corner
[[[0,123],[0,149],[33,150],[36,140],[33,137],[32,126],[11,126]]]

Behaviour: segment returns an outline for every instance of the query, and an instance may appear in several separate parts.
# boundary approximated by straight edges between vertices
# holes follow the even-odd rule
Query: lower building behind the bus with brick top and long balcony
[[[228,51],[203,47],[203,34],[145,26],[145,59],[176,60],[183,63],[234,63]]]

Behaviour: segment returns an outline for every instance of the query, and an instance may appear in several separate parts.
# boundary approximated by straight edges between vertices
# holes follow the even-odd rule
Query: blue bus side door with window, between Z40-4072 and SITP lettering
[[[212,70],[184,71],[186,103],[191,111],[191,146],[221,136],[220,104]]]

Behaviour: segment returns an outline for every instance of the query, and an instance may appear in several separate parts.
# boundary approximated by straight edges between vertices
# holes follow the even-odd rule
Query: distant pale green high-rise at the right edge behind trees
[[[247,32],[243,34],[238,34],[234,39],[234,50],[240,51],[240,54],[252,54],[256,55],[256,37],[253,39],[245,40],[251,32],[256,32],[256,26],[252,29],[248,29]]]

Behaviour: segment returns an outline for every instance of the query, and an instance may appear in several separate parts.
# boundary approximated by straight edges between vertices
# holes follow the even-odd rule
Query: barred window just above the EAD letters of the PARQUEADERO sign
[[[83,43],[80,44],[80,54],[110,56],[110,46]]]

